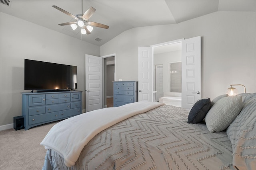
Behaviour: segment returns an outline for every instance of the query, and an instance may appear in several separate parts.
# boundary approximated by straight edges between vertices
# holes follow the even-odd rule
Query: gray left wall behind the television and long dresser
[[[78,66],[85,109],[85,54],[100,56],[100,47],[0,12],[0,126],[22,114],[20,93],[30,92],[24,90],[24,59]]]

